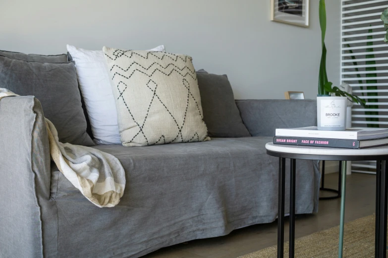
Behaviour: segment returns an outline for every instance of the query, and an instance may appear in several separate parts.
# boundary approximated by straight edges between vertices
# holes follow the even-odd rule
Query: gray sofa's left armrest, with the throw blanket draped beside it
[[[50,150],[40,102],[0,100],[0,257],[42,257],[42,206],[50,199]]]

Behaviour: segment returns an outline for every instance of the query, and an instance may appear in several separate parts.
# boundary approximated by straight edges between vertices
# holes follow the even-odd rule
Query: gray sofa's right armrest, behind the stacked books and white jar
[[[277,128],[317,125],[316,100],[247,99],[236,104],[252,136],[275,136]]]

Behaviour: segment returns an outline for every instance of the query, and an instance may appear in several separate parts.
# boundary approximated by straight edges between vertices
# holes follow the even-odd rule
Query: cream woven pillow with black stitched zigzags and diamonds
[[[124,146],[205,141],[192,58],[105,47]]]

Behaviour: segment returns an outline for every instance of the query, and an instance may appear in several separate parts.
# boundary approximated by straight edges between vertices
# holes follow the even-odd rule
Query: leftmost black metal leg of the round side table
[[[283,258],[284,252],[284,191],[285,158],[279,158],[279,188],[277,206],[277,258]]]

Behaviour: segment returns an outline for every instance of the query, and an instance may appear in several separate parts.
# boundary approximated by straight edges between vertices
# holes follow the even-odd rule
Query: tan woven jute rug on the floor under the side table
[[[284,233],[288,233],[285,231]],[[332,227],[295,240],[297,258],[338,257],[339,226]],[[277,246],[272,246],[240,258],[276,258]],[[359,218],[345,224],[343,257],[375,257],[375,215]],[[284,243],[284,258],[288,258],[288,242]]]

